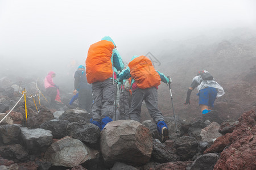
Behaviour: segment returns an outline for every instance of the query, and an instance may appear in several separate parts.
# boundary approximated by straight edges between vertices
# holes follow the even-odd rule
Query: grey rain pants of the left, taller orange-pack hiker
[[[106,79],[104,82],[92,83],[92,94],[94,103],[92,104],[93,121],[100,120],[106,116],[113,118],[115,101],[116,82]]]

